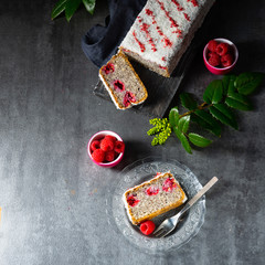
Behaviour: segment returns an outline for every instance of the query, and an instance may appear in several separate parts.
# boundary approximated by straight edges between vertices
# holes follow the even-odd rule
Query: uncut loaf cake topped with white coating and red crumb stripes
[[[169,77],[214,0],[148,0],[119,49]]]

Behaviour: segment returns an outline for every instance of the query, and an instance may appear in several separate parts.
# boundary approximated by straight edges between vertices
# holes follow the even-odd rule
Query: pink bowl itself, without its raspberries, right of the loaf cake
[[[233,42],[231,42],[230,40],[227,40],[227,39],[218,38],[218,39],[214,39],[214,41],[220,42],[220,43],[227,43],[227,44],[232,47],[232,50],[233,50],[233,55],[234,55],[234,62],[233,62],[233,64],[231,64],[231,65],[227,66],[227,67],[214,67],[214,66],[212,66],[212,65],[208,62],[208,60],[206,60],[206,54],[208,54],[208,52],[209,52],[209,50],[208,50],[208,44],[206,44],[205,47],[203,49],[203,61],[204,61],[204,64],[205,64],[206,68],[208,68],[211,73],[213,73],[213,74],[215,74],[215,75],[225,75],[225,74],[230,73],[230,72],[234,68],[234,66],[235,66],[235,64],[236,64],[236,62],[237,62],[237,60],[239,60],[239,50],[237,50],[237,47],[235,46],[235,44],[234,44]]]

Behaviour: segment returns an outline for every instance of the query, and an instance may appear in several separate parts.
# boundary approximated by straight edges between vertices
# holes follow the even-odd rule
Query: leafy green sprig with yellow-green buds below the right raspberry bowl
[[[173,131],[189,153],[192,153],[191,144],[197,147],[209,146],[212,140],[188,131],[191,121],[218,137],[221,136],[221,124],[237,130],[239,125],[232,108],[251,110],[253,107],[247,96],[261,85],[263,78],[263,73],[246,72],[239,76],[225,75],[222,80],[214,80],[205,88],[202,104],[198,104],[190,93],[182,93],[181,105],[189,112],[180,115],[178,107],[173,107],[169,119],[150,119],[153,127],[147,134],[155,135],[151,145],[165,144]]]

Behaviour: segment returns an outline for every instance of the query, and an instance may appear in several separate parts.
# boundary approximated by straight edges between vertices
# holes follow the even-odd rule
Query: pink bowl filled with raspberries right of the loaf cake
[[[206,68],[216,75],[230,73],[239,59],[235,44],[226,39],[214,39],[209,41],[203,50],[203,61]]]

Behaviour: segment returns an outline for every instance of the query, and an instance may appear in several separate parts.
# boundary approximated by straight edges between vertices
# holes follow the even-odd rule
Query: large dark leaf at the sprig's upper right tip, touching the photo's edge
[[[257,72],[240,74],[235,80],[235,87],[240,94],[250,95],[261,85],[263,77],[264,74]]]

